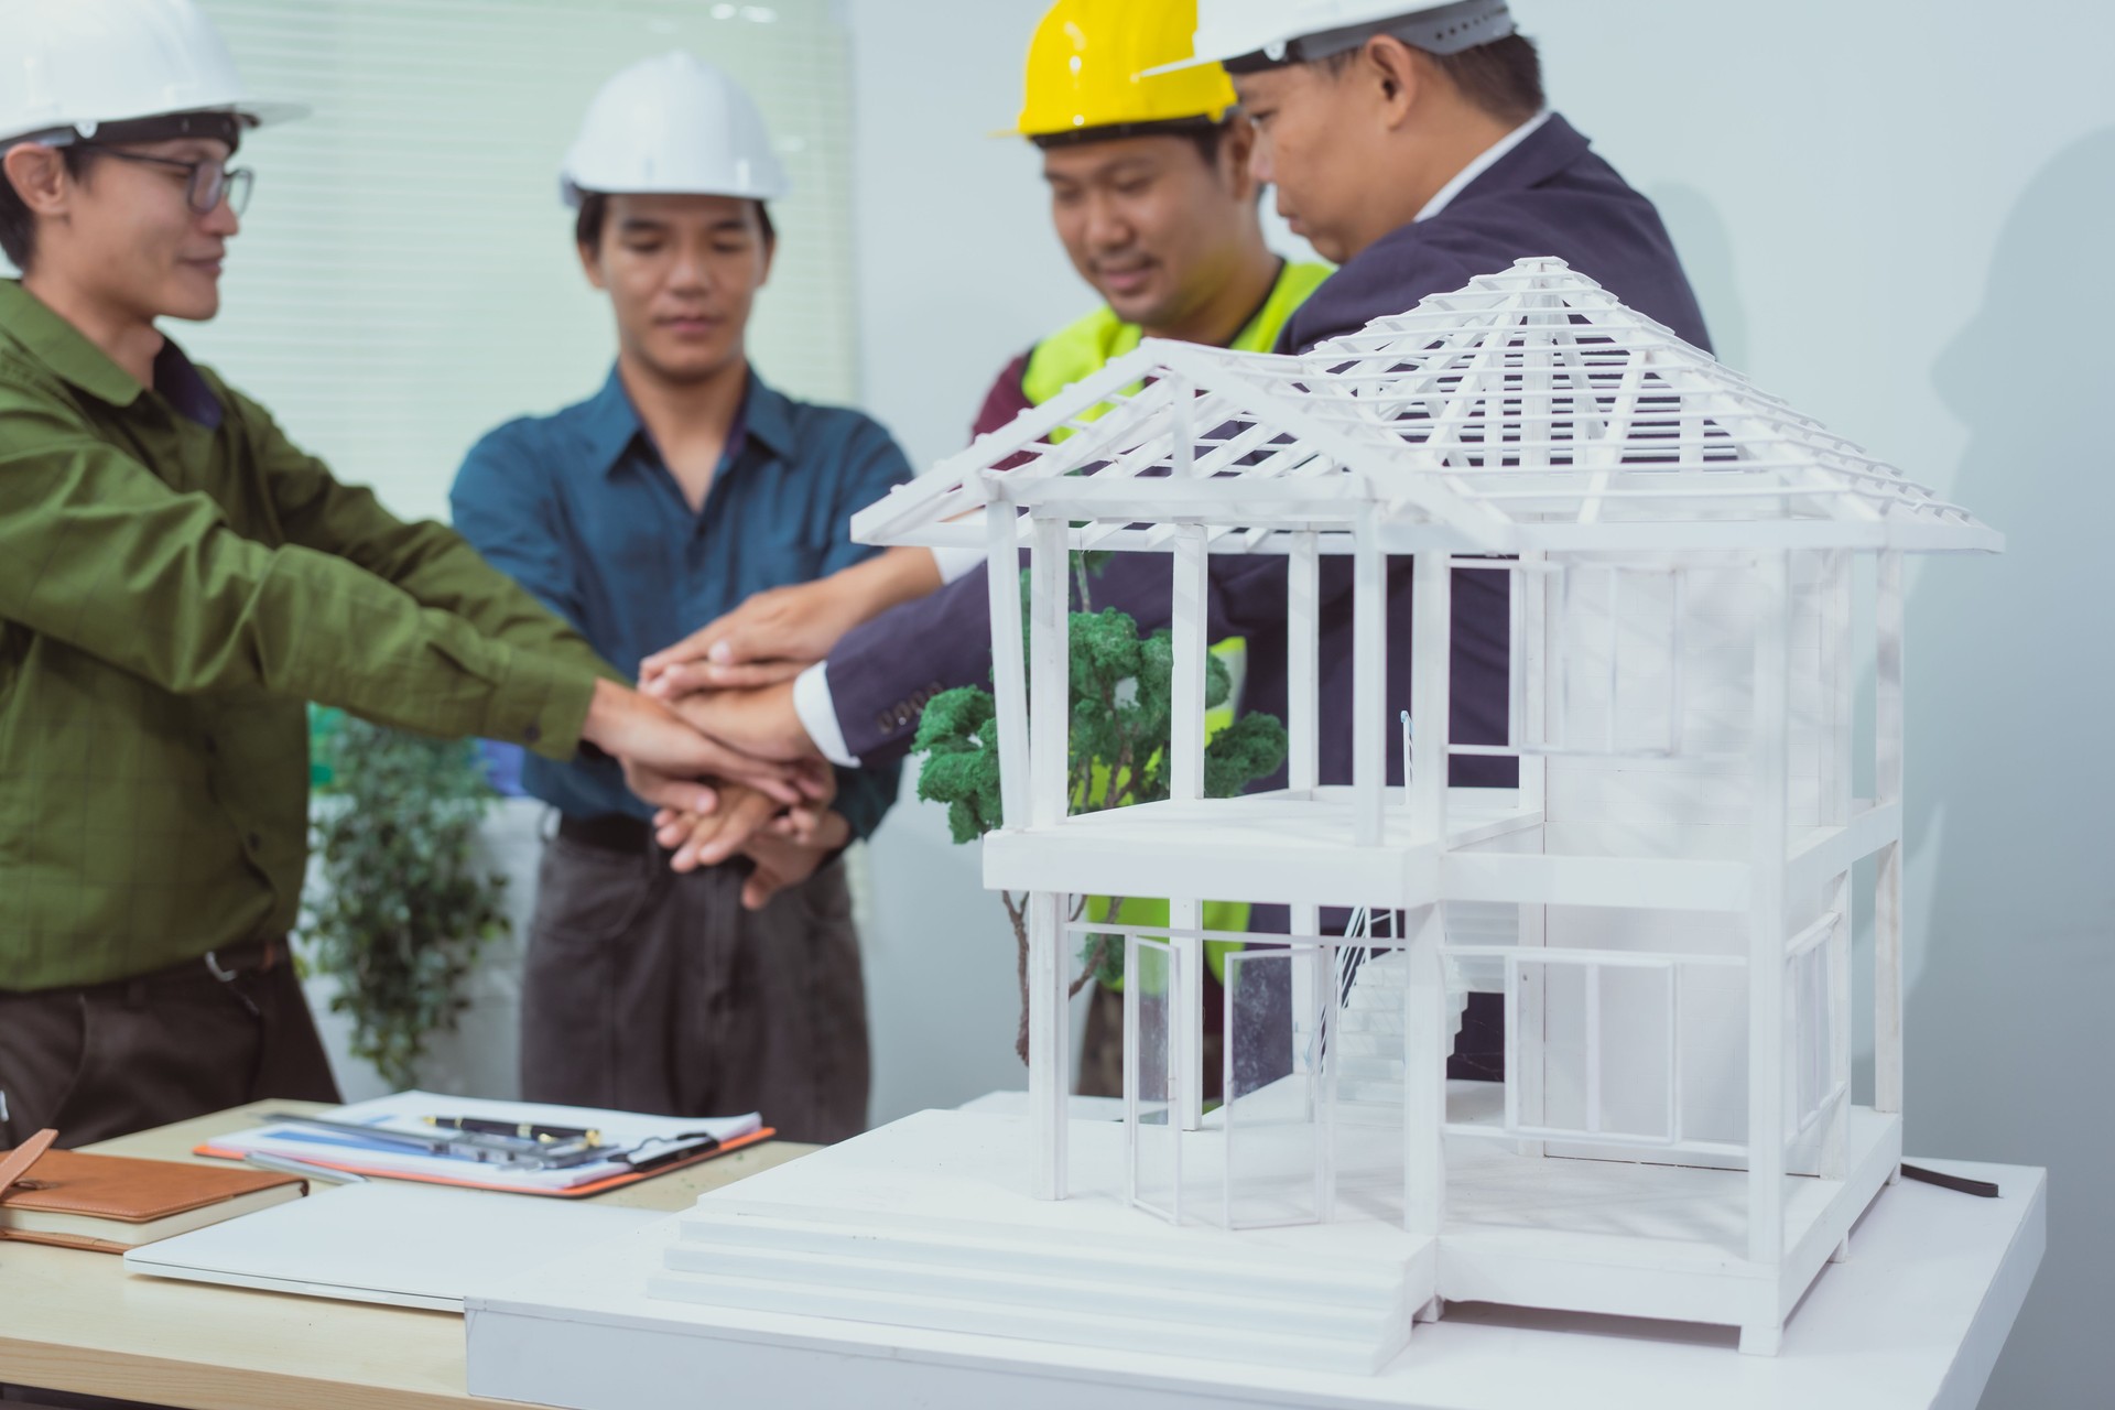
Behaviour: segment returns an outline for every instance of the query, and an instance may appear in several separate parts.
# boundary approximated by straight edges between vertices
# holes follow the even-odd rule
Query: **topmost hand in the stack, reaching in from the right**
[[[751,594],[639,666],[639,685],[660,700],[692,691],[755,689],[791,681],[821,662],[854,626],[939,588],[924,548],[893,548],[829,577]]]

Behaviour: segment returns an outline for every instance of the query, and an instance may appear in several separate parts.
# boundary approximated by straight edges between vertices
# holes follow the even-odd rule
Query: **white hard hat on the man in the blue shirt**
[[[704,59],[641,59],[596,91],[558,173],[567,205],[584,192],[687,197],[787,194],[764,114]]]

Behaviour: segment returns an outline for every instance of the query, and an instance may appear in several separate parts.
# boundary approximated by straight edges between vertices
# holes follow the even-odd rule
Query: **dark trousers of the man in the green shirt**
[[[165,1127],[264,1097],[336,1101],[283,941],[78,989],[0,989],[0,1148]]]

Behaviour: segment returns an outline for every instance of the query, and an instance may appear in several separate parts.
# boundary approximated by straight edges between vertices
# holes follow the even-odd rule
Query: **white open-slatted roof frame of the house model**
[[[1368,514],[1390,552],[2003,545],[1563,260],[1299,357],[1146,340],[852,533],[981,543],[981,505],[1072,520],[1081,548],[1206,524],[1214,552],[1299,528],[1341,552]]]

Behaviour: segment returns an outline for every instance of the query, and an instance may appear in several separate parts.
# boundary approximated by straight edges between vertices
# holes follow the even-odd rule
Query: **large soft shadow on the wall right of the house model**
[[[2052,1167],[2047,1262],[1984,1397],[2020,1410],[2088,1404],[2115,1378],[2111,247],[2115,129],[2033,180],[1937,359],[1969,427],[1952,499],[2007,552],[1925,560],[1910,602],[1910,846],[1933,850],[1937,882],[1910,996],[1908,1148]]]

